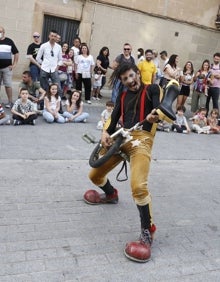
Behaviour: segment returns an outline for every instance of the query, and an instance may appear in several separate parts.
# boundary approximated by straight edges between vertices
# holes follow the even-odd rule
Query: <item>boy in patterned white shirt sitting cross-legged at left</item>
[[[31,124],[35,125],[37,113],[34,109],[34,103],[28,99],[29,93],[26,88],[21,88],[19,97],[12,109],[12,118],[14,119],[14,125]]]

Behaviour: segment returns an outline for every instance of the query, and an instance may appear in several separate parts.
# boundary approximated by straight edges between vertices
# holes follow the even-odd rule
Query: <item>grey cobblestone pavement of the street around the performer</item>
[[[106,94],[106,93],[105,93]],[[1,94],[1,99],[4,100]],[[86,124],[1,126],[0,282],[220,281],[220,150],[217,135],[158,132],[149,186],[157,225],[152,259],[123,255],[140,224],[129,180],[118,205],[89,206],[87,174],[104,101]]]

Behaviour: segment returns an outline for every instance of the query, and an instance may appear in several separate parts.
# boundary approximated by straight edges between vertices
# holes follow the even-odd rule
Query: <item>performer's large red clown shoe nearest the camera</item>
[[[142,230],[139,241],[126,244],[124,254],[127,258],[137,262],[147,262],[150,260],[152,235],[156,231],[156,226],[152,225],[151,229]]]

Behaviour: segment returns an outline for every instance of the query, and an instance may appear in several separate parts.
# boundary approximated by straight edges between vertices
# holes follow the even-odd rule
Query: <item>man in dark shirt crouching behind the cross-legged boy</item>
[[[19,91],[21,88],[28,90],[28,99],[35,104],[35,110],[37,110],[37,104],[39,104],[40,110],[43,110],[46,91],[40,87],[39,82],[33,81],[30,71],[23,72],[22,82],[19,84]]]

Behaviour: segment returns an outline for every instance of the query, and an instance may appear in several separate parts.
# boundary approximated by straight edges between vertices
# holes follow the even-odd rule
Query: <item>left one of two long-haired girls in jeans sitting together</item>
[[[64,117],[59,113],[61,98],[58,95],[58,85],[52,83],[44,98],[43,118],[48,123],[65,123]]]

